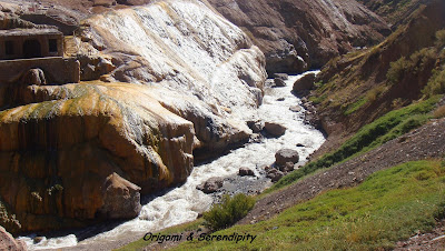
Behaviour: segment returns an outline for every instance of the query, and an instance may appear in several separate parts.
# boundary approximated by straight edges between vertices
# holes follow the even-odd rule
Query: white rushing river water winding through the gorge
[[[286,81],[287,87],[284,88],[266,88],[264,103],[257,110],[258,118],[263,121],[277,122],[287,128],[283,137],[278,139],[265,138],[259,143],[249,143],[212,162],[195,167],[185,184],[151,200],[142,207],[137,219],[125,222],[110,231],[80,242],[77,241],[75,234],[43,239],[38,244],[32,243],[32,237],[21,239],[27,242],[31,250],[37,250],[73,247],[77,244],[88,245],[113,241],[128,235],[142,237],[147,232],[192,221],[198,213],[206,211],[210,207],[212,199],[210,195],[197,190],[196,185],[209,178],[235,174],[241,167],[250,168],[258,174],[259,168],[264,164],[271,164],[275,161],[275,153],[283,148],[298,150],[303,164],[306,158],[318,149],[325,139],[322,132],[303,122],[304,110],[299,112],[289,110],[290,107],[300,104],[300,100],[291,93],[293,83],[300,77],[289,77],[289,80]],[[297,147],[297,144],[303,144],[304,147]]]

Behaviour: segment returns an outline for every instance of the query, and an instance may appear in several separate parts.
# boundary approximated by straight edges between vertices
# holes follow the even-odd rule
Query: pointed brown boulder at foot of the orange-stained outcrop
[[[103,205],[99,210],[107,219],[136,218],[141,209],[140,188],[116,172],[107,177],[103,187]]]

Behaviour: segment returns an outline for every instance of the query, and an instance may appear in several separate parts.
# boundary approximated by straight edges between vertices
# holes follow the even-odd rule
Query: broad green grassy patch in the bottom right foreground
[[[254,242],[184,242],[177,250],[378,250],[445,215],[445,162],[408,162],[372,174],[355,188],[325,192],[256,224],[212,233],[253,234]]]

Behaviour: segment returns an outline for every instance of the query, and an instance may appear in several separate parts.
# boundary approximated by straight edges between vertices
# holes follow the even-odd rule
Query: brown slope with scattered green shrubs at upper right
[[[383,43],[327,63],[309,96],[330,138],[319,154],[388,111],[441,93],[428,90],[443,71],[436,32],[445,28],[444,11],[443,1],[433,1]]]

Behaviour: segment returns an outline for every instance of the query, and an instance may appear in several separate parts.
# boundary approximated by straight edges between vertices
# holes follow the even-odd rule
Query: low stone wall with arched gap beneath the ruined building
[[[75,58],[38,58],[0,61],[0,86],[16,83],[29,69],[43,70],[49,84],[78,83],[80,81],[80,63]]]

